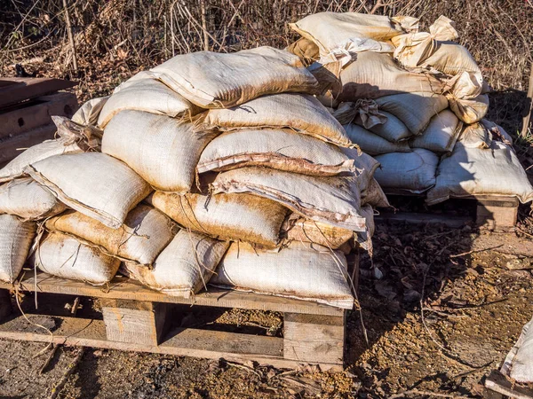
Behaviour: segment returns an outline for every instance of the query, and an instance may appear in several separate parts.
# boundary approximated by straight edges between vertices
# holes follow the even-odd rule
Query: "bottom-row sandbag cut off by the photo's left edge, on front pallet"
[[[0,280],[13,283],[26,262],[36,235],[36,223],[13,215],[0,215]]]

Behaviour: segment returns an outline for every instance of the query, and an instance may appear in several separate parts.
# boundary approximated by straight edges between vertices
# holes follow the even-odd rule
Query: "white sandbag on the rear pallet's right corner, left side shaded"
[[[494,195],[533,200],[533,187],[513,148],[493,141],[488,149],[468,148],[457,143],[441,161],[436,185],[426,202],[437,204],[449,197]]]

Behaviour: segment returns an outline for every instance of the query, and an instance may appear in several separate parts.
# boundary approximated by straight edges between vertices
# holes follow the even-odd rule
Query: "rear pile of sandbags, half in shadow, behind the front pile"
[[[310,70],[330,71],[318,98],[352,143],[381,164],[389,192],[427,193],[435,204],[479,194],[533,199],[533,187],[504,129],[484,118],[488,85],[453,21],[429,32],[410,17],[320,12],[290,24],[288,50]]]

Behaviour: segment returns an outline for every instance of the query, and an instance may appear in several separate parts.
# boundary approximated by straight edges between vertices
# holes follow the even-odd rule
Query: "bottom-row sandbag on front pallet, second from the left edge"
[[[93,286],[111,281],[120,266],[119,259],[60,232],[48,234],[40,242],[33,258],[36,268],[45,273],[81,280]]]

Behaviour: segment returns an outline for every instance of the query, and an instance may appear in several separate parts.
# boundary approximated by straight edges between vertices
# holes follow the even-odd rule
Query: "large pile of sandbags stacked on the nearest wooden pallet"
[[[28,258],[92,285],[120,269],[171,295],[352,308],[346,253],[387,202],[318,94],[298,57],[259,47],[180,55],[91,100],[0,170],[0,278]]]

